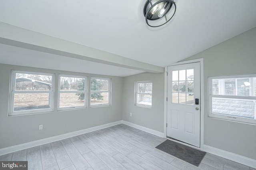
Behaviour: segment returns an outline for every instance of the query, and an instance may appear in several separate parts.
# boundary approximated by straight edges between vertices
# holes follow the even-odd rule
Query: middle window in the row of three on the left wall
[[[87,77],[59,75],[58,110],[86,108]]]

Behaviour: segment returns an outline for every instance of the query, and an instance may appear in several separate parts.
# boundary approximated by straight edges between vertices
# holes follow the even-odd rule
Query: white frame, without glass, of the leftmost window
[[[51,91],[15,91],[15,82],[16,82],[16,73],[23,74],[40,74],[40,75],[49,75],[52,76],[52,89]],[[30,71],[19,71],[12,70],[11,71],[11,80],[10,80],[10,96],[9,96],[9,112],[8,116],[16,116],[16,115],[30,115],[36,113],[47,113],[54,111],[54,77],[55,74],[50,73],[42,73],[42,72],[30,72]],[[28,94],[28,93],[48,93],[50,100],[50,108],[49,109],[33,109],[33,110],[25,110],[25,111],[14,111],[14,94]]]

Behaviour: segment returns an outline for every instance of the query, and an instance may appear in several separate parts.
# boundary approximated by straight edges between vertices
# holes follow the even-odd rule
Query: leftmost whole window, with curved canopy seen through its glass
[[[53,85],[54,74],[12,70],[9,115],[53,111]]]

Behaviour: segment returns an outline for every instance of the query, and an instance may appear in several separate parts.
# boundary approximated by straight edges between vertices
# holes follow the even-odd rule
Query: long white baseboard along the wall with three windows
[[[87,128],[87,129],[82,129],[80,131],[74,131],[74,132],[65,133],[65,134],[62,134],[62,135],[54,136],[54,137],[49,137],[49,138],[40,139],[40,140],[37,140],[37,141],[23,143],[23,144],[20,144],[20,145],[15,145],[15,146],[12,146],[12,147],[3,148],[3,149],[0,149],[0,155],[16,152],[16,151],[23,150],[23,149],[28,149],[28,148],[31,148],[31,147],[36,147],[36,146],[39,146],[39,145],[44,145],[44,144],[55,142],[55,141],[60,141],[62,139],[67,139],[67,138],[74,137],[74,136],[77,136],[77,135],[82,135],[84,133],[97,131],[97,130],[104,129],[104,128],[107,128],[107,127],[111,127],[111,126],[114,126],[114,125],[119,125],[121,123],[122,123],[121,120],[120,121],[115,121],[115,122],[112,122],[112,123],[106,123],[104,125],[99,125],[99,126],[90,127],[90,128]]]

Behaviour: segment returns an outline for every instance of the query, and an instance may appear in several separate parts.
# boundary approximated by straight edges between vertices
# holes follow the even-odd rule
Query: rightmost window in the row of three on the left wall
[[[91,78],[90,107],[109,106],[111,100],[110,89],[110,78]]]

